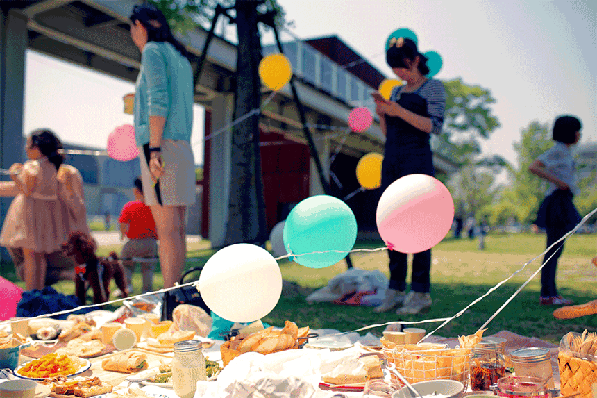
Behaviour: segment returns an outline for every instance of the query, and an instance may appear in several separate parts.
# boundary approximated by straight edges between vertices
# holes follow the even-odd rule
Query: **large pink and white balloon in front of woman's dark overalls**
[[[452,226],[454,201],[439,180],[410,174],[394,181],[380,197],[376,221],[391,250],[419,253],[438,244]]]

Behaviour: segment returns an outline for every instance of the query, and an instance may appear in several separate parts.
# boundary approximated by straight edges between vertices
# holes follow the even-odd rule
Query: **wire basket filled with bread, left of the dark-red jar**
[[[456,380],[469,383],[469,363],[473,347],[481,341],[483,331],[458,338],[460,345],[449,348],[445,344],[419,343],[397,345],[385,338],[380,341],[387,363],[392,363],[398,372],[410,383],[428,380]],[[390,373],[394,388],[401,388],[403,383],[393,372]]]

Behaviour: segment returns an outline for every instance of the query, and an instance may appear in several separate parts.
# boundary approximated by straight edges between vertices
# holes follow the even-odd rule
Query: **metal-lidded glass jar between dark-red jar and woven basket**
[[[516,376],[537,377],[546,382],[547,388],[554,388],[551,353],[544,347],[526,347],[510,353],[510,361]]]

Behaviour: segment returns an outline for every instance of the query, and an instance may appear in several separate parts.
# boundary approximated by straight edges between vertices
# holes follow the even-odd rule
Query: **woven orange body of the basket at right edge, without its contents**
[[[560,351],[557,354],[560,367],[560,390],[562,395],[580,392],[578,398],[591,398],[591,386],[597,383],[597,362],[579,358],[571,352]]]

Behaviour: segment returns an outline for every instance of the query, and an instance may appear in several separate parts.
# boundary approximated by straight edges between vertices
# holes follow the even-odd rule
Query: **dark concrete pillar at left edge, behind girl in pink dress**
[[[25,51],[28,44],[27,17],[16,10],[0,10],[0,167],[22,162]],[[6,177],[4,177],[6,178]],[[3,178],[3,179],[4,179]],[[12,198],[0,199],[0,224]],[[4,249],[3,261],[10,261]]]

